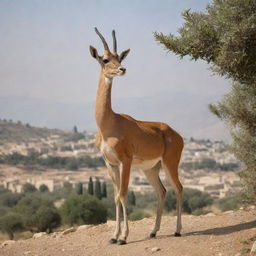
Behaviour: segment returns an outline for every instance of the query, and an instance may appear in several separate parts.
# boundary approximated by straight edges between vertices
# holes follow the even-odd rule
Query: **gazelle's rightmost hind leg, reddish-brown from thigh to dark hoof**
[[[183,199],[183,187],[179,180],[178,167],[183,149],[183,140],[181,137],[176,138],[172,142],[168,142],[166,151],[163,155],[162,166],[169,178],[172,187],[176,194],[177,199],[177,227],[175,236],[180,236],[181,225],[181,211],[182,211],[182,199]]]

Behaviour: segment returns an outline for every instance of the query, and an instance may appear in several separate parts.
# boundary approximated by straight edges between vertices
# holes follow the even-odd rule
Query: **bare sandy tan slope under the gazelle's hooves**
[[[0,248],[2,256],[103,256],[103,255],[163,255],[163,256],[243,256],[249,255],[256,240],[256,210],[229,211],[214,215],[183,216],[182,237],[174,237],[175,217],[163,217],[156,239],[147,236],[154,219],[130,222],[128,244],[110,245],[108,239],[114,222],[98,226],[80,226],[68,234],[53,233],[39,238],[6,242]],[[39,235],[40,236],[40,235]]]

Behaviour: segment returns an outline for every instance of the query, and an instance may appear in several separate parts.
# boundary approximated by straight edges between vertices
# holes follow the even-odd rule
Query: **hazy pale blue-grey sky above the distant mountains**
[[[227,81],[213,76],[204,62],[180,60],[166,53],[152,34],[176,33],[184,9],[204,10],[208,3],[1,0],[0,95],[68,103],[94,101],[99,65],[88,47],[93,45],[102,53],[102,43],[93,29],[97,26],[110,45],[115,29],[118,50],[131,49],[123,63],[126,76],[114,80],[114,98],[175,92],[221,98],[229,89]]]

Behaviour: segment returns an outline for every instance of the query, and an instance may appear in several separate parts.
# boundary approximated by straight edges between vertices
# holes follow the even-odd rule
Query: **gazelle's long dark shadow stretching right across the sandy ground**
[[[182,234],[182,237],[196,236],[196,235],[214,235],[214,236],[228,235],[228,234],[231,234],[234,232],[238,232],[241,230],[247,230],[247,229],[251,229],[251,228],[256,228],[256,220],[246,222],[246,223],[226,226],[226,227],[217,227],[217,228],[211,228],[211,229],[205,229],[205,230],[199,230],[199,231],[192,231],[192,232]],[[159,235],[153,239],[163,239],[163,238],[168,238],[168,237],[174,237],[174,235]],[[151,239],[152,238],[147,237],[147,238],[141,239],[141,240],[129,241],[129,244],[145,242],[145,241],[151,240]],[[177,239],[179,239],[179,237],[177,237]]]

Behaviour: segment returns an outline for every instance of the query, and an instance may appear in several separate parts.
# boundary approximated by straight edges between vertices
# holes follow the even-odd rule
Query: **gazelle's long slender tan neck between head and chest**
[[[106,78],[101,71],[95,111],[97,126],[101,132],[108,129],[114,117],[111,106],[112,80],[112,78]]]

